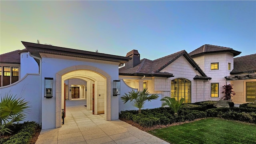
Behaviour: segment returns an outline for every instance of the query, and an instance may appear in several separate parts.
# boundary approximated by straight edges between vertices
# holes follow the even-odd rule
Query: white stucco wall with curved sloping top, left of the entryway
[[[39,74],[27,74],[19,81],[8,86],[0,87],[1,98],[8,94],[17,95],[17,98],[30,102],[30,112],[24,121],[35,121],[41,124],[41,97],[39,92]]]

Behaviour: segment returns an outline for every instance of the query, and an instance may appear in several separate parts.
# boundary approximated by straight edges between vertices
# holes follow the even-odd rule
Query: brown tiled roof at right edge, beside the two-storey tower
[[[234,69],[230,74],[254,73],[256,72],[256,54],[234,58]]]

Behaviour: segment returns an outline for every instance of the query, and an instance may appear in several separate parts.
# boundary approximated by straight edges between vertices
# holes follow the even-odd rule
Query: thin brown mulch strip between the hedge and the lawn
[[[186,124],[186,123],[190,123],[190,122],[195,122],[195,121],[198,121],[198,120],[202,120],[202,119],[205,119],[205,118],[198,118],[196,120],[193,120],[193,121],[185,121],[185,122],[176,122],[176,123],[173,123],[173,124],[167,124],[167,125],[155,125],[155,126],[150,126],[150,127],[143,127],[143,126],[140,126],[140,124],[137,124],[135,122],[133,122],[132,120],[125,120],[125,119],[120,119],[140,130],[143,130],[145,132],[148,132],[150,130],[155,130],[155,129],[160,129],[160,128],[168,128],[170,126],[177,126],[177,125],[180,125],[180,124]]]

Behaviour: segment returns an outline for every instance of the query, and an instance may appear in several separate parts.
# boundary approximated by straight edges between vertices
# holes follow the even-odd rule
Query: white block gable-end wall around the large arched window
[[[204,87],[203,80],[194,80],[193,78],[196,75],[200,75],[198,71],[196,71],[193,66],[184,58],[184,56],[180,56],[177,60],[166,66],[161,72],[169,72],[174,75],[174,77],[168,78],[165,81],[159,80],[155,78],[155,90],[166,91],[170,90],[171,84],[170,81],[176,78],[186,78],[191,81],[191,102],[198,102],[204,99],[204,92],[208,91],[206,87]],[[203,90],[204,88],[204,90]],[[164,92],[166,96],[170,96],[170,92]]]

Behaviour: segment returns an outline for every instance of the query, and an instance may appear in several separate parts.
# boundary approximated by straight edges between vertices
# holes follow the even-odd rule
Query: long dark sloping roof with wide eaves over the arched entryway
[[[22,42],[22,44],[26,47],[32,55],[41,57],[40,53],[46,54],[57,54],[62,56],[72,56],[79,58],[90,58],[95,60],[105,60],[111,62],[119,62],[120,64],[124,64],[128,62],[132,58],[124,57],[124,56],[116,56],[111,54],[103,54],[98,52],[89,52],[85,50],[76,50],[71,48],[63,48],[58,46],[50,46],[45,44],[35,44],[31,42]]]

